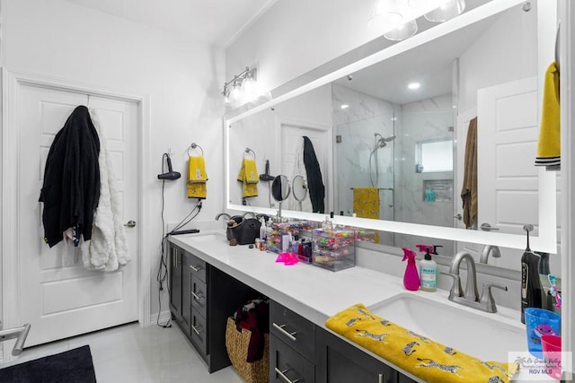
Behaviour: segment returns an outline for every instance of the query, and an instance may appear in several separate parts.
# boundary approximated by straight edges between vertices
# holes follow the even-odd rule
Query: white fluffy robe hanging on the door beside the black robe
[[[100,200],[94,213],[92,239],[82,243],[84,267],[105,272],[118,270],[131,259],[122,222],[122,207],[111,158],[96,113],[90,109],[93,125],[100,136]]]

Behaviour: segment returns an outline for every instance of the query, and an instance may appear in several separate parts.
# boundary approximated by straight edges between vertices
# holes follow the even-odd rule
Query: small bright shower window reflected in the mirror
[[[421,141],[416,144],[415,171],[453,171],[453,141]]]

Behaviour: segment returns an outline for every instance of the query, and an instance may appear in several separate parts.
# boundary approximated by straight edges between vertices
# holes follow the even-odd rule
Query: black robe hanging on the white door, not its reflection
[[[50,248],[68,228],[84,240],[92,238],[100,199],[99,154],[100,139],[88,109],[76,107],[50,146],[40,191],[44,239]]]

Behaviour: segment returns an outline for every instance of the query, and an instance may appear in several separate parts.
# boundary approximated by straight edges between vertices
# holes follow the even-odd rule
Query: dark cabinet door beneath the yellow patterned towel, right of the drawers
[[[318,383],[397,383],[398,373],[362,349],[323,328],[316,329]]]

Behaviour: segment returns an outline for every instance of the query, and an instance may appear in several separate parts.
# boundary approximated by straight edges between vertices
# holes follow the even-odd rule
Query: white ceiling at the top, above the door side
[[[186,39],[226,47],[277,0],[66,0]]]

